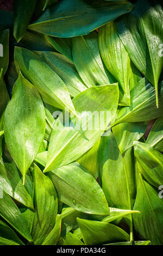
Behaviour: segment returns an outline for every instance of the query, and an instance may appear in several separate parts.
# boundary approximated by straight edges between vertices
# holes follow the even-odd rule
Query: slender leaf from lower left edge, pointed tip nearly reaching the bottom
[[[26,220],[14,201],[4,191],[3,198],[0,198],[0,215],[29,242],[33,241]]]

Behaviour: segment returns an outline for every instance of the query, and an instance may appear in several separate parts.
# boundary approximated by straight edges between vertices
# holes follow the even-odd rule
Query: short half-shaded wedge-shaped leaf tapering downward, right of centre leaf
[[[147,129],[147,122],[121,123],[112,127],[121,154],[133,146],[134,141],[139,141]]]

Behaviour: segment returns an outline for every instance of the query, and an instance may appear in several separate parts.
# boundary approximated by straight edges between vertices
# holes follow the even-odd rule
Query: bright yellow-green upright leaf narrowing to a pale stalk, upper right
[[[99,51],[106,68],[120,86],[119,105],[130,106],[130,58],[118,36],[114,21],[99,30]]]

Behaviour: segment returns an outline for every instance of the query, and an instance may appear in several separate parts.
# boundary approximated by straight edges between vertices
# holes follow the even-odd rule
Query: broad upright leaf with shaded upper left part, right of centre
[[[133,149],[121,155],[111,133],[101,138],[98,163],[99,179],[109,206],[131,210],[136,196]]]

